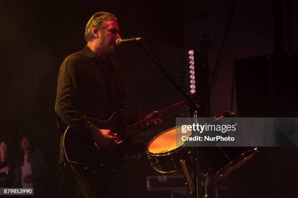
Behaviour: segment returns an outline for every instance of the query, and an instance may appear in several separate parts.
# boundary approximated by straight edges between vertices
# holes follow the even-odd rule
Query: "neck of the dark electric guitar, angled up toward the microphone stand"
[[[184,108],[185,106],[186,105],[185,105],[184,101],[178,102],[178,103],[176,103],[172,106],[169,106],[168,108],[156,113],[154,116],[148,117],[148,118],[143,119],[133,125],[130,125],[129,127],[127,127],[126,129],[124,129],[120,132],[122,134],[121,140],[123,140],[127,137],[130,137],[131,135],[133,135],[135,133],[141,132],[141,131],[147,129],[149,126],[153,125],[155,117],[163,119],[163,118],[167,117],[168,115],[171,115],[171,114],[177,112],[178,110]]]

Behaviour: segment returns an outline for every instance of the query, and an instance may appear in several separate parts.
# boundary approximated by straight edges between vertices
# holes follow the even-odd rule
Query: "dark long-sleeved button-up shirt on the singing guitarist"
[[[124,89],[117,63],[100,59],[86,46],[68,56],[59,69],[55,111],[71,128],[95,134],[87,117],[107,120],[123,109]]]

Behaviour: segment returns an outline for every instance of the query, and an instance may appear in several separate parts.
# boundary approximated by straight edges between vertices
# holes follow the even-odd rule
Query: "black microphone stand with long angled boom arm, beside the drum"
[[[149,45],[151,46],[151,48],[153,49],[155,56],[158,60],[158,62],[149,54],[149,52],[144,48],[144,46],[140,43],[137,42],[138,46],[149,56],[149,58],[155,63],[155,65],[165,74],[165,76],[168,78],[168,80],[171,82],[171,84],[185,97],[185,99],[187,99],[188,101],[191,102],[191,105],[189,106],[190,108],[190,112],[193,113],[194,117],[196,118],[196,114],[199,113],[199,107],[200,105],[195,103],[194,100],[190,97],[190,95],[186,94],[180,87],[179,85],[172,79],[172,76],[170,74],[168,74],[168,72],[166,71],[166,69],[164,68],[164,66],[162,65],[161,61],[159,60],[155,49],[153,48],[152,44],[150,43],[150,41],[148,39],[146,39],[149,43]],[[198,165],[198,159],[197,159],[197,149],[196,147],[192,148],[192,153],[193,153],[193,161],[194,161],[194,186],[195,186],[195,191],[194,191],[194,196],[195,198],[203,198],[202,197],[202,191],[201,189],[199,189],[200,187],[200,174],[201,171],[199,169],[199,165]]]

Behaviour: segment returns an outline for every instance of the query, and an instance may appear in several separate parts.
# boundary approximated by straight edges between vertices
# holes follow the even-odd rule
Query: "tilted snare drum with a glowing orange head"
[[[173,127],[159,133],[147,146],[150,165],[162,174],[178,174],[182,169],[180,160],[185,160],[186,164],[191,163],[190,149],[183,147],[184,142],[181,138],[176,142],[176,132],[183,134],[181,127]],[[191,131],[187,131],[184,135],[189,137]]]

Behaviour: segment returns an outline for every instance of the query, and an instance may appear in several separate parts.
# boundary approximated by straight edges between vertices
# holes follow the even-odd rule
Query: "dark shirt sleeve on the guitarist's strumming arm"
[[[94,135],[98,128],[80,111],[79,94],[78,63],[67,58],[58,73],[55,111],[71,128]]]

